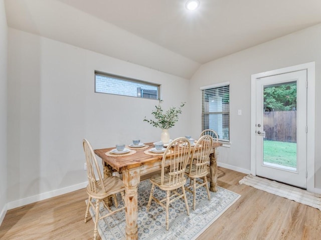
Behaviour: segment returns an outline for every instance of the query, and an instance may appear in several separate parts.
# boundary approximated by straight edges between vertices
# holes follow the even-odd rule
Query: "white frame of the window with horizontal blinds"
[[[206,98],[204,96],[205,91],[212,90],[214,92],[215,89],[218,89],[221,87],[227,87],[227,86],[228,86],[228,91],[227,91],[228,92],[228,111],[224,110],[224,109],[222,109],[222,111],[205,111],[205,103],[206,103],[206,101],[205,101]],[[215,114],[222,114],[222,117],[223,117],[223,115],[227,114],[228,121],[226,122],[226,121],[222,120],[222,132],[223,132],[223,123],[227,123],[228,124],[228,139],[222,138],[222,135],[224,135],[224,134],[220,134],[218,132],[218,129],[213,129],[213,130],[215,130],[218,133],[219,142],[230,143],[231,142],[231,139],[230,139],[230,129],[231,129],[231,125],[230,125],[230,82],[227,81],[227,82],[221,82],[221,83],[212,84],[212,85],[208,85],[208,86],[202,86],[202,87],[200,87],[200,90],[202,91],[202,98],[201,98],[201,102],[202,102],[202,113],[201,113],[202,126],[201,126],[201,128],[202,128],[202,131],[207,129],[204,127],[206,115],[210,116],[210,115],[215,115]],[[227,92],[225,91],[225,93],[227,93]],[[223,100],[224,99],[222,98],[222,104],[223,104]]]

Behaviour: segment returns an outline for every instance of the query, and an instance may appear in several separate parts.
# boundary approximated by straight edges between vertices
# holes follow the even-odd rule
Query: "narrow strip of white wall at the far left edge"
[[[4,0],[0,0],[0,224],[7,209],[7,38]]]

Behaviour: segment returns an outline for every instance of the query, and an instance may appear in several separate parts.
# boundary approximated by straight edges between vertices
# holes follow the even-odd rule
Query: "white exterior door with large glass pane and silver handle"
[[[306,188],[306,70],[256,79],[256,175]]]

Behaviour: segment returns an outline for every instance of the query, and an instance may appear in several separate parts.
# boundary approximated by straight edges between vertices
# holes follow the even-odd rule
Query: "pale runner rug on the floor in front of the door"
[[[257,189],[321,210],[321,194],[309,192],[298,187],[290,186],[263,177],[253,176],[252,174],[243,177],[239,183],[244,183]]]

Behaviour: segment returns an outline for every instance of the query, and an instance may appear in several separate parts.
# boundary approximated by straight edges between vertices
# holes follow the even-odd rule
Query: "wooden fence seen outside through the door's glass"
[[[265,139],[296,142],[296,111],[266,111],[263,118]]]

